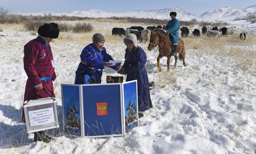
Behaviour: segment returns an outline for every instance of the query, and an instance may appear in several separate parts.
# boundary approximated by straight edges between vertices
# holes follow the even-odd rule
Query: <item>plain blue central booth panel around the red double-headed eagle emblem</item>
[[[97,115],[97,103],[108,103],[108,114]],[[85,136],[122,134],[120,85],[83,86]]]

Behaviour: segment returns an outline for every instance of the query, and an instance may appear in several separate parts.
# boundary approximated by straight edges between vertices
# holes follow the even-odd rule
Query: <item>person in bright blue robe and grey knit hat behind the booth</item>
[[[104,67],[109,67],[113,60],[111,55],[107,54],[106,48],[103,47],[105,38],[100,33],[93,35],[93,43],[84,47],[80,54],[81,62],[75,72],[74,84],[94,84],[101,83],[102,70]],[[111,66],[116,71],[121,67],[120,65]]]

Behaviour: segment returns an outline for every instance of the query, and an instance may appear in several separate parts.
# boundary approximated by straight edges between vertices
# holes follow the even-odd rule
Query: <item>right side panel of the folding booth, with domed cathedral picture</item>
[[[124,83],[124,115],[125,115],[125,132],[138,126],[137,110],[137,89],[136,81]]]

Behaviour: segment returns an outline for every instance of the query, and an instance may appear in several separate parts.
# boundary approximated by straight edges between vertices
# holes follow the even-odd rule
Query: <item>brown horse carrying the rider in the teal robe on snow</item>
[[[156,46],[159,47],[159,50],[158,50],[159,55],[157,57],[158,71],[159,72],[162,71],[162,68],[160,66],[160,59],[162,57],[167,57],[167,70],[169,71],[172,49],[171,49],[171,44],[169,43],[169,39],[168,39],[167,35],[162,34],[161,32],[151,33],[149,45],[148,45],[148,51],[151,51],[152,49],[155,50]],[[177,54],[179,54],[179,60],[183,60],[183,65],[187,66],[187,64],[185,62],[185,42],[181,38],[179,38]],[[178,57],[177,56],[174,56],[174,57],[175,57],[174,67],[176,67]]]

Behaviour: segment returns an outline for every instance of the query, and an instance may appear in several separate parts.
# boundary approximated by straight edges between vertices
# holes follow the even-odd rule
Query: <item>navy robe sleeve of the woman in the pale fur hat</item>
[[[138,51],[138,54],[136,54],[136,55],[137,55],[138,62],[134,63],[132,66],[124,67],[124,72],[126,74],[137,72],[145,66],[145,64],[147,62],[146,53],[143,52],[143,50],[140,50],[140,51]]]

